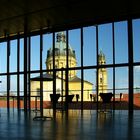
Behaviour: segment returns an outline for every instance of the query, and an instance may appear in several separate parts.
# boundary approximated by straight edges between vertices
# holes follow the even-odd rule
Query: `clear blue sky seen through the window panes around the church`
[[[113,63],[113,46],[112,46],[112,24],[99,25],[99,50],[102,50],[106,56],[106,63]],[[96,65],[96,28],[94,26],[85,27],[84,31],[84,66]],[[133,20],[133,45],[134,45],[134,62],[140,61],[140,20]],[[40,66],[39,43],[40,37],[34,36],[31,38],[31,70],[38,70]],[[69,31],[69,44],[76,52],[77,66],[81,65],[80,56],[80,29]],[[23,39],[20,41],[20,71],[23,71]],[[43,69],[46,69],[47,50],[52,47],[52,34],[45,34],[43,36]],[[6,43],[0,43],[0,72],[6,72]],[[17,69],[17,41],[11,41],[11,55],[10,55],[10,71],[15,72]],[[115,23],[115,63],[128,62],[128,38],[127,38],[127,22]],[[134,86],[140,87],[140,67],[134,68]],[[84,79],[96,85],[96,71],[85,70]],[[108,85],[112,88],[113,71],[108,69]],[[35,75],[32,75],[32,77]],[[80,73],[78,72],[80,77]],[[23,76],[21,76],[23,77]],[[6,76],[1,76],[2,81],[0,88],[6,90]],[[11,77],[11,90],[16,90],[16,76]],[[23,78],[21,78],[21,89],[23,87]],[[128,69],[116,69],[116,88],[128,87]]]

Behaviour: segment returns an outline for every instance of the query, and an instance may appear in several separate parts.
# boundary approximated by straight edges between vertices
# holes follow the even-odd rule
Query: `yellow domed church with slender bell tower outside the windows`
[[[46,58],[46,69],[53,69],[53,52],[55,52],[55,69],[60,69],[61,71],[56,71],[56,94],[64,95],[65,94],[65,71],[66,68],[66,35],[64,32],[57,33],[56,42],[55,42],[55,50],[53,51],[53,47],[51,47],[47,51]],[[68,64],[69,68],[77,66],[76,54],[75,50],[72,49],[70,45],[68,45]],[[105,56],[103,53],[99,55],[99,64],[105,63]],[[40,76],[31,78],[31,96],[39,96],[40,95]],[[50,101],[50,94],[53,93],[53,72],[49,71],[43,74],[43,99],[44,101]],[[50,80],[49,80],[50,79]],[[99,70],[98,77],[98,88],[99,92],[106,92],[107,90],[107,71],[106,69]],[[81,79],[77,76],[76,70],[70,70],[68,73],[68,94],[73,94],[73,101],[76,101],[76,95],[79,96],[79,101],[81,100]],[[83,101],[90,101],[90,94],[93,94],[93,83],[83,80]],[[61,100],[61,99],[60,99]]]

